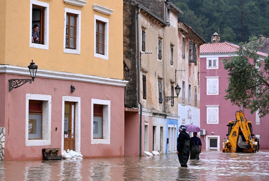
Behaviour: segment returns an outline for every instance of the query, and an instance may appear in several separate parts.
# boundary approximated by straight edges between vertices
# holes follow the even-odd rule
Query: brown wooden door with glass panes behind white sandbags
[[[63,119],[63,149],[67,151],[75,149],[75,103],[64,103],[64,119]]]

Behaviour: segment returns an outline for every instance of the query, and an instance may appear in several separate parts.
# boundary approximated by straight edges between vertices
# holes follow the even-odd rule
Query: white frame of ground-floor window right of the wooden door
[[[94,138],[94,104],[103,105],[103,138]],[[110,100],[91,99],[91,144],[110,144]]]

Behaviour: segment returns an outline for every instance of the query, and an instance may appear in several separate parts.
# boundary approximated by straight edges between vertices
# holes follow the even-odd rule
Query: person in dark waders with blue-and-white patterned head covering
[[[180,163],[180,166],[182,167],[188,167],[187,162],[190,156],[190,135],[186,133],[186,126],[181,125],[178,129],[180,134],[178,135],[177,139],[177,151],[175,153],[178,154],[178,160]]]

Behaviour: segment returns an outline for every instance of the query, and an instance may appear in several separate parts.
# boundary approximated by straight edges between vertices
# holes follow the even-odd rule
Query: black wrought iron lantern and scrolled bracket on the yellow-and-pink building
[[[9,79],[8,80],[8,82],[9,82],[8,91],[11,91],[12,89],[16,89],[27,82],[32,83],[32,81],[34,81],[34,79],[36,77],[36,71],[38,69],[38,66],[32,60],[32,62],[28,66],[28,68],[29,68],[32,79]]]

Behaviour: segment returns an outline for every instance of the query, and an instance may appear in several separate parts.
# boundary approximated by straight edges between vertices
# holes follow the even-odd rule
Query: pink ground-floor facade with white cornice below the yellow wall
[[[9,92],[9,79],[27,79],[8,72],[15,66],[1,67],[0,127],[5,127],[5,161],[43,159],[42,148],[66,149],[69,126],[67,106],[71,103],[70,130],[74,149],[89,157],[124,155],[124,85],[123,81],[71,73],[38,70],[35,81]],[[26,68],[20,68],[21,74]],[[53,75],[53,79],[49,76]],[[66,78],[61,78],[66,77]],[[82,81],[83,79],[83,81]],[[98,82],[98,83],[97,83]],[[70,86],[76,90],[72,93]],[[98,90],[98,91],[96,91]],[[42,101],[42,139],[31,139],[30,101]],[[102,105],[103,138],[94,138],[94,106]],[[36,127],[38,127],[38,123]],[[37,128],[36,128],[37,129]],[[38,131],[36,131],[37,134]],[[72,141],[72,140],[71,140]],[[109,154],[108,154],[109,153]]]

